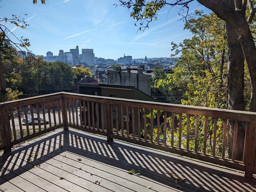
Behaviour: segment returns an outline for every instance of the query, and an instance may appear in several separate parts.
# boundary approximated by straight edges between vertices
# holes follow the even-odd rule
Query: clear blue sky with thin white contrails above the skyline
[[[40,0],[38,0],[40,1]],[[191,33],[183,30],[175,8],[158,11],[158,20],[149,29],[138,31],[133,18],[124,7],[115,7],[116,0],[47,0],[46,5],[33,5],[32,0],[3,0],[1,17],[28,14],[26,29],[15,28],[17,36],[28,38],[33,53],[46,56],[47,51],[58,55],[74,49],[93,49],[95,57],[117,59],[126,55],[133,58],[170,57],[171,42],[182,42]],[[190,3],[190,12],[208,9],[198,2]],[[7,25],[12,30],[14,25]],[[137,34],[136,34],[137,32]]]

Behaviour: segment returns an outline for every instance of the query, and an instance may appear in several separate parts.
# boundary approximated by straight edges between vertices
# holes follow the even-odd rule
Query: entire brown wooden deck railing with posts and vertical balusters
[[[245,171],[246,177],[256,173],[252,112],[61,92],[1,103],[0,123],[5,152],[49,131],[73,127],[106,135],[108,141],[120,139]]]

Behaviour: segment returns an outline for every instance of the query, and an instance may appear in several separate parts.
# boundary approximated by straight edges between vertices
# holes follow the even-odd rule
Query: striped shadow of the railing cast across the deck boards
[[[31,156],[32,153],[34,156]],[[35,156],[35,153],[38,155]],[[178,179],[178,185],[185,191],[197,188],[198,191],[252,191],[256,188],[256,178],[246,180],[234,171],[226,173],[225,169],[218,166],[120,141],[107,142],[104,137],[76,130],[59,130],[17,146],[9,154],[3,154],[0,161],[0,176],[7,182],[18,176],[22,177],[26,172],[34,174],[33,166],[48,163],[50,159],[60,161],[57,158],[60,156],[75,161],[77,157],[86,159],[91,161],[91,164],[94,162],[102,165],[106,172],[108,169],[122,171],[120,175],[110,173],[120,178],[128,174],[126,171],[140,170],[139,177],[149,179],[163,187],[177,189],[174,178],[186,178],[184,181]],[[32,161],[29,162],[27,158],[31,158]],[[80,163],[82,167],[85,161]],[[51,166],[57,167],[54,164]],[[216,170],[212,170],[213,167]],[[36,177],[43,178],[38,174]],[[129,180],[129,182],[135,181]]]

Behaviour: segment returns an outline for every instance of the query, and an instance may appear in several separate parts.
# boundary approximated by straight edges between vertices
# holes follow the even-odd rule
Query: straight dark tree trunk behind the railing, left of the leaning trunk
[[[244,111],[244,54],[238,34],[232,25],[225,22],[228,45],[228,109]],[[232,157],[235,122],[228,121],[228,156]],[[238,122],[236,160],[242,160],[246,123]]]

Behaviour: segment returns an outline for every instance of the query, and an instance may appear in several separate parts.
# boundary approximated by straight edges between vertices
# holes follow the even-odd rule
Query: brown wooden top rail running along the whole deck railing
[[[140,107],[140,108],[147,108],[147,109],[157,109],[157,110],[170,111],[170,112],[176,112],[176,113],[203,115],[208,117],[217,117],[217,118],[224,118],[224,119],[234,119],[238,121],[250,122],[250,117],[256,117],[255,112],[249,112],[249,111],[216,109],[216,108],[210,108],[210,107],[198,107],[198,106],[171,104],[171,103],[159,103],[159,102],[140,101],[140,100],[133,100],[133,99],[121,99],[121,98],[103,97],[103,96],[95,96],[95,95],[84,95],[84,94],[74,95],[74,93],[67,93],[67,92],[58,92],[58,93],[26,98],[26,99],[8,101],[8,102],[1,103],[0,107],[4,106],[5,109],[9,109],[12,107],[47,101],[48,99],[57,99],[62,97],[68,98],[69,96],[72,96],[72,97],[76,96],[79,99],[88,98],[90,100],[94,100],[97,102],[105,102],[106,100],[108,100],[110,104],[116,104],[116,105],[133,106],[133,107]]]

